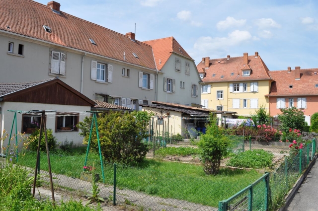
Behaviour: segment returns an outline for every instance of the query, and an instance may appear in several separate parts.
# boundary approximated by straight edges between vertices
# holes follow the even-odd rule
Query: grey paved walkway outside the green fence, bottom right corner
[[[318,211],[318,160],[285,211]]]

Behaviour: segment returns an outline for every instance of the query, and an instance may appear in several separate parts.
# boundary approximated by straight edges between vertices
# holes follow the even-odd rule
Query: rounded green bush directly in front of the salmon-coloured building
[[[286,133],[290,128],[303,131],[304,126],[306,126],[304,112],[295,107],[283,108],[278,119],[281,121],[280,129]]]

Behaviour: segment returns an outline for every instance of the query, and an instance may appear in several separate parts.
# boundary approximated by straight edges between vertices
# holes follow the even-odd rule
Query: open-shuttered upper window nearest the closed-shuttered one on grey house
[[[91,61],[90,79],[96,81],[113,82],[113,66],[97,61]]]

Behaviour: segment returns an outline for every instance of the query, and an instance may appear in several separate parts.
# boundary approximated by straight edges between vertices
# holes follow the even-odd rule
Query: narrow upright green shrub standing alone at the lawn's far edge
[[[221,159],[227,156],[231,140],[218,128],[216,119],[210,114],[210,124],[207,124],[206,134],[201,135],[198,147],[200,158],[206,174],[216,175],[219,172]]]

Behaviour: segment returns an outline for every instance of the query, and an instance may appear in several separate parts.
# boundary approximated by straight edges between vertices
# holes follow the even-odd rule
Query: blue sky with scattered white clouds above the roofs
[[[315,0],[56,1],[62,11],[122,34],[136,23],[139,41],[173,36],[196,64],[257,51],[269,70],[318,68]]]

